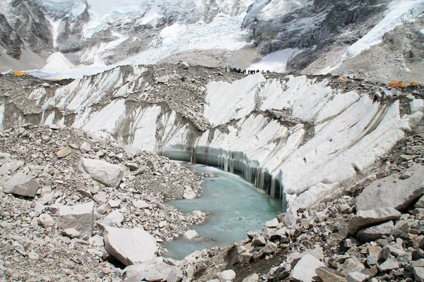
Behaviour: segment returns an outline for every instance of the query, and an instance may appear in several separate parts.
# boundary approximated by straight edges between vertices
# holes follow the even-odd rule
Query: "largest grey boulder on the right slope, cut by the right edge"
[[[424,166],[415,164],[408,169],[412,176],[399,179],[398,174],[375,180],[356,198],[359,211],[392,207],[406,209],[424,192]]]

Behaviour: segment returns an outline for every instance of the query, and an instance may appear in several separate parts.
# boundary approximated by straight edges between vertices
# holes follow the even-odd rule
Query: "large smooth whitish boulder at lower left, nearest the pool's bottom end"
[[[151,263],[158,251],[155,238],[140,228],[107,227],[104,239],[107,252],[125,265]]]

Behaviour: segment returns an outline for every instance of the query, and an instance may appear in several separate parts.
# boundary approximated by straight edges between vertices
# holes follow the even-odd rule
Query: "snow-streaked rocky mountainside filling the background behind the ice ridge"
[[[248,68],[261,56],[293,49],[287,71],[424,82],[422,1],[128,0],[126,8],[108,1],[102,9],[98,0],[13,1],[0,11],[4,71],[13,68],[7,56],[19,59],[22,52],[39,63],[60,51],[76,66],[104,70],[173,56]],[[30,18],[27,27],[20,18]]]

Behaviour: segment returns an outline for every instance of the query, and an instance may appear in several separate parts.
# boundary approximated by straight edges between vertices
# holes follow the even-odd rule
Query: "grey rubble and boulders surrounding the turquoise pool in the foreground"
[[[163,75],[172,76],[158,74]],[[231,79],[225,75],[216,74]],[[331,85],[363,88],[375,99],[384,89],[338,78]],[[422,87],[394,91],[401,111],[407,111],[411,91],[423,98]],[[166,99],[174,99],[170,107],[181,106],[204,130],[208,123],[196,116],[202,97],[192,100],[192,116],[181,100]],[[159,91],[144,97],[162,98]],[[423,162],[420,118],[349,189],[298,209],[293,226],[280,214],[242,242],[177,261],[163,257],[160,243],[179,235],[202,240],[196,239],[195,225],[208,214],[184,214],[166,201],[199,196],[201,179],[211,176],[152,152],[131,154],[76,128],[30,123],[4,128],[0,281],[424,281]]]

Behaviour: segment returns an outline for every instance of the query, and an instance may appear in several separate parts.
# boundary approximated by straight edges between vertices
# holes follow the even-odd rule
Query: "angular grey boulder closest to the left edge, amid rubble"
[[[40,184],[22,171],[19,171],[4,183],[5,193],[11,193],[20,196],[35,197]]]

